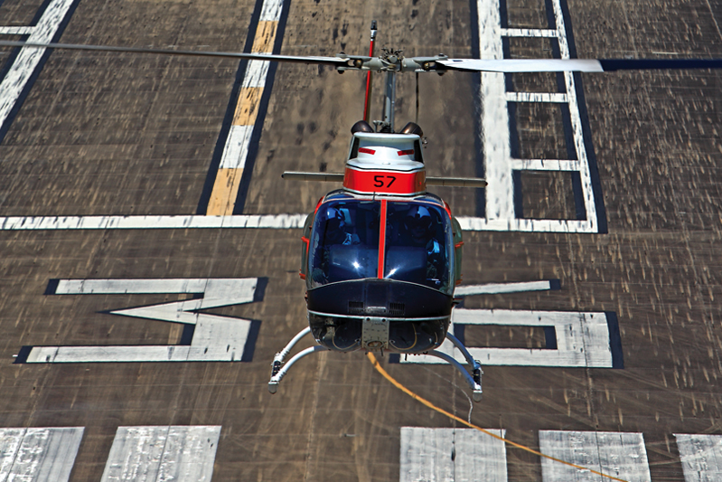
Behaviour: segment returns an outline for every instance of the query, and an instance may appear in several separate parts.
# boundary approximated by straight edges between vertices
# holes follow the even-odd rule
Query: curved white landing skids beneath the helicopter
[[[281,350],[276,354],[276,356],[274,356],[273,364],[271,365],[271,380],[268,382],[268,392],[277,392],[278,384],[281,383],[281,380],[283,380],[283,377],[286,376],[288,370],[290,370],[291,366],[293,366],[298,360],[315,352],[328,351],[328,348],[320,345],[315,345],[298,352],[290,360],[288,360],[288,362],[284,362],[286,356],[291,353],[291,350],[294,348],[295,344],[298,343],[304,336],[309,335],[310,333],[310,327],[301,330],[300,332],[298,332],[298,335],[294,336],[293,339],[288,342],[288,345],[286,345],[283,350]],[[474,360],[472,355],[469,353],[469,350],[466,349],[466,347],[458,340],[458,338],[456,338],[450,333],[446,334],[446,338],[448,338],[448,340],[453,343],[462,354],[464,354],[466,362],[472,367],[472,373],[467,372],[464,368],[464,365],[457,362],[455,358],[449,354],[439,352],[438,350],[432,350],[427,354],[431,356],[436,356],[436,358],[440,358],[444,360],[447,364],[451,364],[452,366],[454,366],[456,370],[458,370],[458,372],[462,374],[464,380],[466,381],[466,383],[469,384],[469,387],[472,389],[472,396],[474,398],[474,402],[481,402],[483,374],[482,365],[479,363],[478,360]]]

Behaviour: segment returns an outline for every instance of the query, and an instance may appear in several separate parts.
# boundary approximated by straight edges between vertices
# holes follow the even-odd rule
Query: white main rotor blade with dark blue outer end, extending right
[[[436,63],[468,72],[608,72],[722,69],[722,59],[448,59]]]

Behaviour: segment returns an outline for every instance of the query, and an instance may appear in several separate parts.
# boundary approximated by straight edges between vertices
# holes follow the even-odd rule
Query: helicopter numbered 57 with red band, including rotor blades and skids
[[[423,130],[408,122],[395,127],[396,76],[401,73],[466,72],[605,72],[661,69],[722,69],[720,59],[450,59],[443,54],[405,58],[383,49],[374,56],[376,22],[371,24],[368,56],[339,53],[334,57],[265,53],[202,52],[68,43],[0,41],[0,46],[96,52],[136,52],[203,56],[237,60],[286,61],[366,71],[363,119],[351,129],[343,173],[286,172],[289,180],[341,183],[325,194],[305,220],[300,277],[305,281],[308,326],[274,357],[268,390],[290,368],[320,351],[428,354],[461,373],[482,399],[482,366],[451,333],[455,287],[461,283],[463,234],[450,206],[427,186],[484,187],[483,179],[429,177],[423,153]],[[369,122],[372,72],[385,79],[383,118]],[[418,91],[418,90],[417,90]],[[417,99],[418,106],[418,99]],[[373,126],[371,125],[373,124]],[[295,345],[311,335],[316,345],[286,361]],[[436,350],[446,339],[471,368]]]

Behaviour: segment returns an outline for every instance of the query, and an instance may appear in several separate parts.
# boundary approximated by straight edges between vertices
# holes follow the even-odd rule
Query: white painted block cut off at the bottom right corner
[[[722,480],[722,435],[675,433],[685,482]]]

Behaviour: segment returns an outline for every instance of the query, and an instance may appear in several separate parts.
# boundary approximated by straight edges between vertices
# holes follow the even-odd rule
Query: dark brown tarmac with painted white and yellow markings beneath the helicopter
[[[717,0],[5,0],[0,37],[364,54],[373,19],[408,56],[722,57]],[[26,50],[0,49],[0,481],[604,479],[361,353],[268,393],[307,326],[298,226],[335,187],[280,174],[342,171],[365,75]],[[483,401],[448,365],[381,366],[555,458],[720,479],[720,75],[421,75],[428,175],[490,181],[435,190]]]

